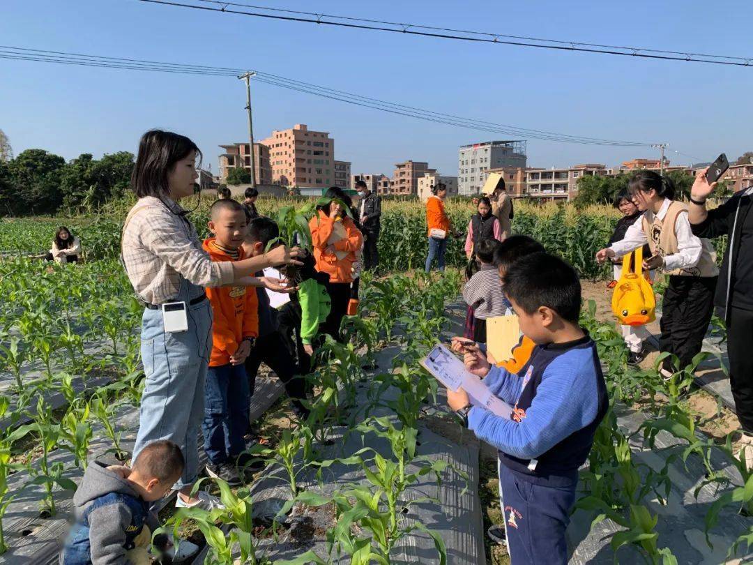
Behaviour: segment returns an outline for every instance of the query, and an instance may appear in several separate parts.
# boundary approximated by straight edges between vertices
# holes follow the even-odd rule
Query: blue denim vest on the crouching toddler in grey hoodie
[[[66,548],[62,554],[62,565],[89,565],[92,563],[91,544],[89,541],[89,515],[102,506],[111,504],[125,504],[131,512],[131,523],[126,529],[126,550],[135,547],[136,537],[142,532],[149,513],[149,505],[135,496],[122,493],[109,493],[100,496],[84,510],[81,518],[76,522],[66,541]]]

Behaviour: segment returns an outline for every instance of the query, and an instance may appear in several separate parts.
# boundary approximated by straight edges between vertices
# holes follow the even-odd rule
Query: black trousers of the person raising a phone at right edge
[[[727,355],[730,386],[742,429],[753,434],[753,311],[730,307],[727,323]]]

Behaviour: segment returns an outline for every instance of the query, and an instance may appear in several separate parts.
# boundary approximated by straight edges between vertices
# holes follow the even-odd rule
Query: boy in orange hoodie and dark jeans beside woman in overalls
[[[215,237],[204,241],[212,261],[240,261],[246,232],[245,212],[235,200],[221,199],[212,205],[209,230]],[[209,458],[206,472],[231,486],[242,484],[236,469],[245,450],[250,396],[244,362],[259,334],[256,290],[246,286],[206,289],[215,319],[212,324],[212,355],[206,374],[204,406],[204,451]]]

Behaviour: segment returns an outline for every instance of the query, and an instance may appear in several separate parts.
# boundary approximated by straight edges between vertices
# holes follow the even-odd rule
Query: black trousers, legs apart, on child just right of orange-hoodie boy
[[[262,362],[267,363],[267,366],[275,371],[291,399],[306,398],[306,380],[297,371],[294,357],[291,356],[291,352],[278,331],[259,337],[251,353],[245,359],[248,389],[252,395],[256,386],[256,374]]]

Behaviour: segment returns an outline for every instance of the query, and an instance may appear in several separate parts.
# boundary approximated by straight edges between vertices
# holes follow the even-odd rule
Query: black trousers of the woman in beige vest
[[[662,302],[659,350],[674,353],[680,360],[678,369],[690,365],[703,347],[714,313],[716,279],[717,276],[669,277]],[[672,371],[669,359],[664,368]]]

